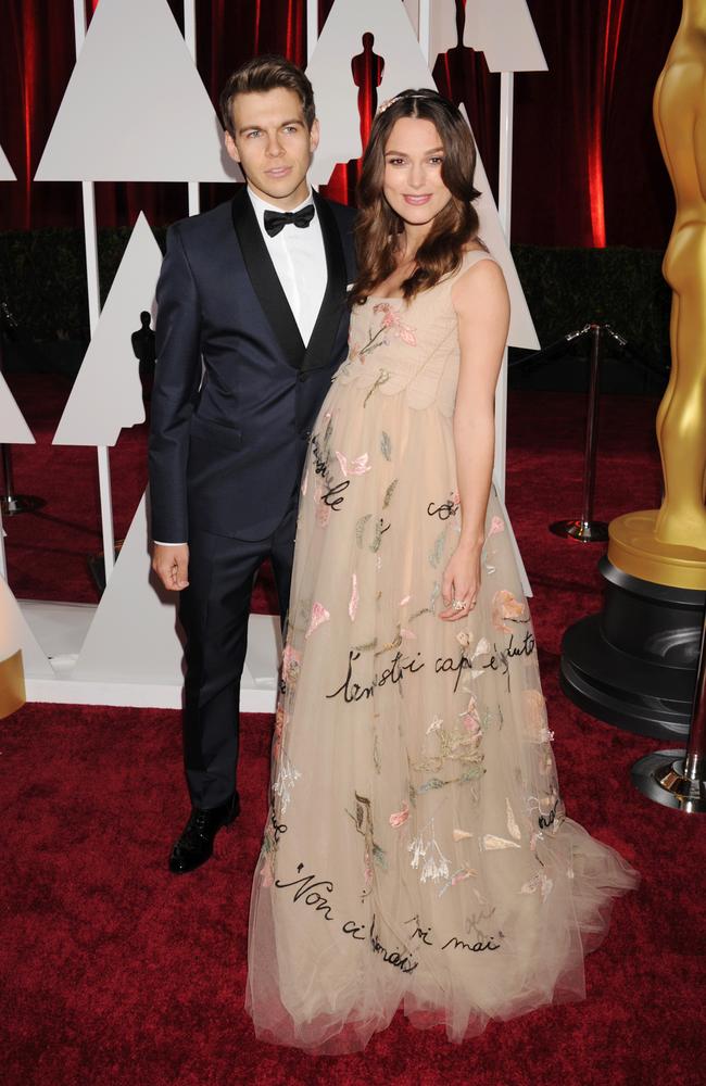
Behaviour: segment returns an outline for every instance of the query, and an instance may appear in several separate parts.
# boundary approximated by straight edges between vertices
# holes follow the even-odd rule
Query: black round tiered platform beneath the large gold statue
[[[640,735],[689,734],[706,593],[653,584],[607,558],[603,611],[564,634],[562,689],[600,720]]]

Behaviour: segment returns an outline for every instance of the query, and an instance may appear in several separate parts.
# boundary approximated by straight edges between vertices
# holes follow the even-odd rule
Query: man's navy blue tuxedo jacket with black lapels
[[[328,281],[306,346],[244,187],[167,232],[151,405],[153,539],[182,543],[194,530],[266,539],[297,491],[313,421],[345,357],[345,288],[355,278],[354,211],[317,193],[314,202]]]

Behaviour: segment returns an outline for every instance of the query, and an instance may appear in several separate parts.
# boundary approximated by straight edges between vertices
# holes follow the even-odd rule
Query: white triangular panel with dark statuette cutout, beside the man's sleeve
[[[143,310],[154,318],[161,264],[160,247],[140,212],[74,381],[54,445],[114,445],[123,427],[144,421],[131,334],[140,327]]]

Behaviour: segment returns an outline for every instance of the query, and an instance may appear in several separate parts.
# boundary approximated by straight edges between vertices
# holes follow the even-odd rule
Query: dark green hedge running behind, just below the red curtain
[[[129,232],[99,232],[103,298]],[[154,232],[163,248],[165,231]],[[541,245],[514,245],[513,253],[543,345],[587,321],[607,321],[645,362],[668,363],[671,295],[661,277],[661,253]],[[83,231],[0,232],[0,299],[20,323],[22,339],[87,342]]]

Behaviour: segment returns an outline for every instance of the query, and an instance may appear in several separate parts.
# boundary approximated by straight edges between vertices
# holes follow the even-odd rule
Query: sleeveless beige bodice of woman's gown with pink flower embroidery
[[[342,384],[375,388],[383,395],[405,393],[409,407],[436,406],[451,417],[458,383],[458,324],[451,292],[479,261],[482,250],[464,254],[456,272],[409,302],[370,295],[351,314],[349,356],[336,375]]]

